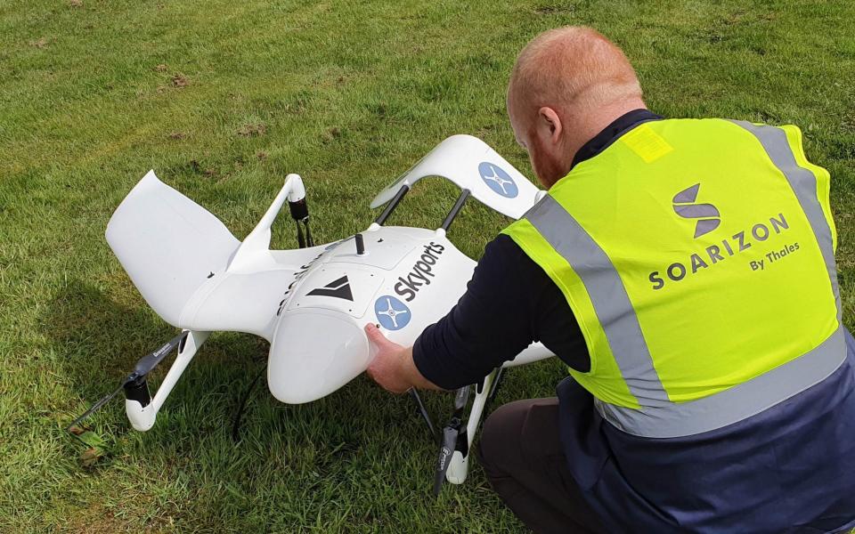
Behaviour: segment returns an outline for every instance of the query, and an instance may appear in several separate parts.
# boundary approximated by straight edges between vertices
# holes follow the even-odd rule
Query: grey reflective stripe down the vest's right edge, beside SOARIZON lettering
[[[825,260],[828,277],[831,279],[831,290],[835,295],[837,305],[837,320],[843,320],[843,308],[840,303],[840,289],[837,287],[837,264],[835,263],[835,247],[832,241],[831,228],[828,226],[826,214],[822,211],[817,197],[817,177],[808,169],[799,166],[795,161],[793,149],[786,140],[786,132],[781,128],[767,125],[753,125],[743,120],[730,121],[751,132],[760,141],[763,150],[769,155],[772,164],[786,176],[795,197],[799,199],[802,211],[808,217],[808,223],[813,230]]]

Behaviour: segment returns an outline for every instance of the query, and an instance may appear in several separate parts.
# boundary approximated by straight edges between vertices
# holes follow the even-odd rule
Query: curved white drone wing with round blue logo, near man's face
[[[380,191],[371,207],[383,206],[402,186],[412,187],[426,176],[451,180],[486,206],[513,219],[525,214],[542,192],[485,142],[471,135],[452,135]]]

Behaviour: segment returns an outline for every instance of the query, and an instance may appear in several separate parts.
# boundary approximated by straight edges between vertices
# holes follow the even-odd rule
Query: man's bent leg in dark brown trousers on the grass
[[[582,498],[558,439],[558,399],[505,404],[481,433],[481,464],[493,490],[535,532],[605,532]]]

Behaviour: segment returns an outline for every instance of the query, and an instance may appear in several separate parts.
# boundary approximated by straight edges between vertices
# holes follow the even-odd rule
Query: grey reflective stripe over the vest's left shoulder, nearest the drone
[[[550,195],[524,215],[582,279],[617,367],[642,406],[668,404],[623,281],[602,248]]]

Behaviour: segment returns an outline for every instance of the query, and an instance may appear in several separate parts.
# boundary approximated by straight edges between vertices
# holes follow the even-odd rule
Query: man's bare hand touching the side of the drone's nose
[[[389,341],[375,325],[365,325],[365,334],[377,349],[377,355],[371,360],[367,373],[383,389],[393,393],[403,393],[412,387],[439,389],[421,376],[412,361],[412,347],[403,347]]]

